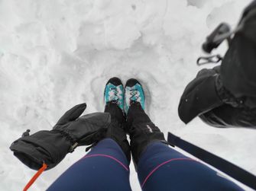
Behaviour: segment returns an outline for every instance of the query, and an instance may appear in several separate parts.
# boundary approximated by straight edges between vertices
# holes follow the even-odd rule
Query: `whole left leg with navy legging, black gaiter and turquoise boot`
[[[49,190],[131,190],[130,146],[123,129],[122,82],[111,78],[105,87],[105,113],[111,123],[105,139],[57,179]]]

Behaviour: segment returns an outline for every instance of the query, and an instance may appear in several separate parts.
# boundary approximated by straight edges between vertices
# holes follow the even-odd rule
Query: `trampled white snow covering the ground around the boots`
[[[256,131],[215,129],[177,116],[199,68],[201,43],[221,21],[235,27],[249,0],[0,0],[0,190],[21,190],[34,174],[8,149],[26,129],[51,129],[70,107],[103,110],[105,82],[138,78],[147,113],[173,132],[256,174]],[[219,51],[225,53],[225,46]],[[44,190],[78,148],[31,190]],[[85,172],[86,173],[86,172]],[[131,186],[140,190],[134,167]]]

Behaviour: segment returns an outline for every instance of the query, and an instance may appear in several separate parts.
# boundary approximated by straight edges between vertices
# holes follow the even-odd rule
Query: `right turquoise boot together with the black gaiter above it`
[[[131,154],[135,167],[147,145],[166,142],[164,134],[144,112],[144,91],[141,83],[131,78],[125,84],[126,129],[131,139]]]

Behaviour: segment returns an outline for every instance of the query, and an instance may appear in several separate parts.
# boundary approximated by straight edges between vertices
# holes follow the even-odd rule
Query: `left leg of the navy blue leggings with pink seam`
[[[131,190],[128,165],[129,161],[122,148],[112,139],[105,138],[67,169],[47,190],[128,191]]]

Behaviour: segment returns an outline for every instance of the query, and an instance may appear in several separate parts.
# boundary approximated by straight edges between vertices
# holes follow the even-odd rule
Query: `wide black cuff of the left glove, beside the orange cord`
[[[19,138],[10,148],[15,157],[31,169],[38,170],[45,163],[49,170],[63,160],[70,145],[70,141],[59,132],[40,131]]]

